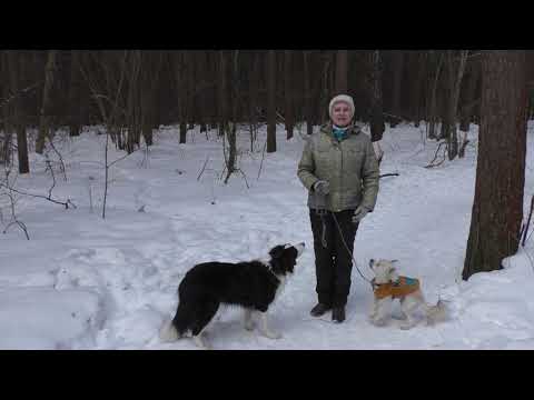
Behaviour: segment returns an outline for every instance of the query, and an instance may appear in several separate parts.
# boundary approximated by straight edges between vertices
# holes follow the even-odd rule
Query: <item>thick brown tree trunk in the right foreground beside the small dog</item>
[[[525,52],[487,51],[475,198],[462,277],[502,268],[517,252],[526,153]]]

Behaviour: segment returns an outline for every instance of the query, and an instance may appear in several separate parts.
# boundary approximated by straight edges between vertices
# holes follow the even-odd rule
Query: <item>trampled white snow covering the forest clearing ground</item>
[[[534,133],[528,131],[525,220],[533,187]],[[158,331],[177,306],[177,287],[195,263],[265,258],[275,244],[306,242],[295,276],[270,310],[271,340],[243,328],[235,308],[221,308],[206,331],[215,349],[534,349],[534,263],[532,241],[503,261],[505,269],[462,281],[476,170],[477,127],[472,126],[466,157],[424,168],[437,144],[425,126],[387,128],[376,209],[360,224],[357,267],[369,277],[370,258],[398,259],[402,273],[421,279],[427,301],[446,301],[449,319],[405,331],[392,320],[377,328],[367,320],[368,283],[353,270],[347,320],[309,316],[316,302],[315,267],[306,190],[296,177],[303,137],[263,154],[265,128],[250,151],[239,133],[238,168],[224,184],[222,143],[216,131],[188,132],[178,143],[177,127],[160,127],[155,144],[115,163],[106,219],[101,127],[78,138],[59,132],[55,143],[53,199],[17,196],[17,226],[0,236],[0,348],[2,349],[197,349],[190,339],[162,343]],[[368,129],[366,129],[368,132]],[[304,136],[304,129],[303,129]],[[109,147],[110,161],[123,157]],[[202,167],[206,167],[202,171]],[[30,154],[31,173],[16,188],[48,196],[52,178],[46,158]],[[12,176],[14,172],[12,172]],[[11,180],[13,177],[11,176]],[[259,178],[258,178],[259,177]],[[247,188],[248,184],[248,188]],[[10,203],[0,197],[2,231]]]

